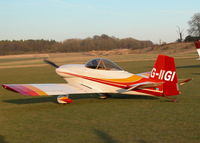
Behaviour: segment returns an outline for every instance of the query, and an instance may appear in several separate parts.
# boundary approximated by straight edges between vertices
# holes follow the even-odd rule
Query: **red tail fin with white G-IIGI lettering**
[[[162,81],[158,87],[164,96],[178,95],[178,80],[173,57],[159,55],[150,74],[150,79]]]

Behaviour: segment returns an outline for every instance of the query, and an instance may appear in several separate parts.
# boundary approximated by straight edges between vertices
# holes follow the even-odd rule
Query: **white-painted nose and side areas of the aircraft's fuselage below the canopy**
[[[88,93],[121,93],[123,90],[119,87],[88,80],[81,76],[95,79],[125,79],[134,75],[124,70],[91,69],[83,64],[63,65],[56,69],[56,73],[63,77],[69,85],[85,90]],[[136,91],[123,92],[123,94],[148,95]]]

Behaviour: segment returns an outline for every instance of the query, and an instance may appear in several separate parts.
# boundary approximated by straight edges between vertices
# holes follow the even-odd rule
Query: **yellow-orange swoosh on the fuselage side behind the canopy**
[[[107,81],[113,81],[113,82],[121,82],[121,83],[127,83],[127,82],[135,82],[142,79],[141,76],[138,75],[132,75],[128,78],[119,78],[119,79],[103,79],[103,80],[107,80]]]

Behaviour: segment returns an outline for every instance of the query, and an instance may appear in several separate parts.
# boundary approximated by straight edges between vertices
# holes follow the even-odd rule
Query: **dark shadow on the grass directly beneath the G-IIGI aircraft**
[[[87,99],[87,98],[98,98],[99,95],[97,94],[85,94],[85,95],[72,95],[70,98],[72,100],[76,99]],[[4,100],[4,102],[7,103],[13,103],[13,104],[34,104],[34,103],[45,103],[45,102],[53,102],[57,103],[57,96],[48,96],[48,97],[33,97],[33,98],[25,98],[25,99],[9,99]],[[147,100],[156,100],[157,97],[151,97],[151,96],[142,96],[142,95],[124,95],[124,94],[112,94],[112,99],[147,99]],[[102,100],[102,99],[101,99]]]

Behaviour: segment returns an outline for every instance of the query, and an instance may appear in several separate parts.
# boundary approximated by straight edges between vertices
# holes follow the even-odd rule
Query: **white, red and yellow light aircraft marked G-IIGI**
[[[166,97],[180,94],[173,57],[159,55],[151,72],[132,74],[123,70],[108,59],[96,58],[86,64],[67,64],[58,66],[45,60],[56,68],[56,73],[67,83],[62,84],[3,84],[3,88],[22,95],[58,95],[58,103],[71,103],[73,94],[98,93],[100,98],[108,98],[112,93]],[[171,98],[169,98],[171,99]],[[171,99],[175,101],[175,99]]]

